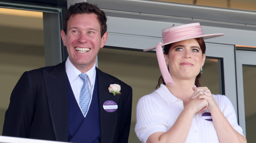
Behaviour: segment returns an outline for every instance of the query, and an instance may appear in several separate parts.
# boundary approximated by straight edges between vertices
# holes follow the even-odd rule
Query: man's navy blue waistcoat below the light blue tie
[[[88,113],[84,118],[78,103],[75,100],[73,90],[68,77],[68,110],[69,129],[68,141],[73,143],[100,143],[100,122],[99,122],[99,100],[98,100],[98,78],[96,74],[92,102]]]

